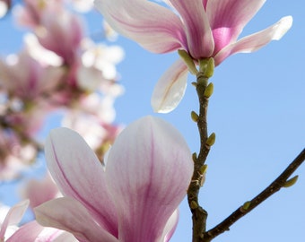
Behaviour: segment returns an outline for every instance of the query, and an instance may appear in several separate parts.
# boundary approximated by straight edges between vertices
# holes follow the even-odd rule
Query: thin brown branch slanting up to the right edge
[[[252,211],[260,203],[263,203],[268,197],[278,192],[282,187],[292,186],[296,179],[292,178],[293,180],[288,180],[288,178],[291,177],[292,173],[301,166],[304,160],[305,149],[301,151],[301,153],[292,161],[292,163],[283,171],[283,173],[277,177],[273,183],[267,186],[263,192],[257,194],[257,196],[254,197],[251,201],[244,203],[242,206],[240,206],[240,208],[231,213],[228,218],[223,220],[216,227],[205,232],[201,241],[211,241],[213,238],[229,230],[233,223],[235,223],[237,220],[240,220],[241,217]]]

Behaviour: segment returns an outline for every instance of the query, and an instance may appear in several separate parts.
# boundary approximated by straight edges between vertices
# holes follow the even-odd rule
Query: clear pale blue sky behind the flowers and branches
[[[263,30],[285,15],[292,15],[292,29],[280,41],[253,54],[231,56],[215,69],[208,128],[216,133],[216,143],[200,193],[200,202],[209,212],[208,229],[268,186],[304,148],[304,11],[302,1],[267,1],[242,36]],[[99,30],[100,15],[87,17],[89,30]],[[2,55],[22,45],[20,32],[17,34],[8,21],[0,22]],[[185,136],[191,151],[198,151],[198,133],[189,115],[198,106],[190,85],[194,76],[188,77],[186,96],[178,108],[170,114],[154,114],[150,106],[153,86],[178,56],[151,54],[123,37],[116,44],[126,52],[118,65],[126,93],[116,101],[117,122],[128,124],[146,115],[162,117]],[[300,175],[295,186],[274,194],[213,241],[304,241],[305,166],[295,174]],[[171,241],[190,240],[191,214],[184,201]]]

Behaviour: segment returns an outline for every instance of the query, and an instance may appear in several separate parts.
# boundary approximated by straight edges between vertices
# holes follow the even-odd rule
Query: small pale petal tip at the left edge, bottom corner
[[[4,238],[5,231],[8,226],[18,224],[23,217],[24,212],[27,210],[30,201],[24,200],[20,203],[15,204],[6,214],[4,222],[0,228],[0,241]]]

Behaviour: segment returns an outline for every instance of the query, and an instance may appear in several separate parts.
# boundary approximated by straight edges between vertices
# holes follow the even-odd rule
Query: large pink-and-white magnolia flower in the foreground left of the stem
[[[193,172],[187,143],[173,126],[156,117],[128,125],[105,167],[79,134],[55,129],[46,159],[65,197],[34,209],[41,225],[81,242],[169,241]]]

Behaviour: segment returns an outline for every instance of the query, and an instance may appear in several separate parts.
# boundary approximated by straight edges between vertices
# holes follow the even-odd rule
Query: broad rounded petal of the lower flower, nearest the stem
[[[160,241],[187,194],[192,172],[187,143],[172,125],[157,117],[128,125],[109,151],[106,166],[119,241]]]

